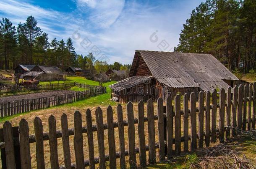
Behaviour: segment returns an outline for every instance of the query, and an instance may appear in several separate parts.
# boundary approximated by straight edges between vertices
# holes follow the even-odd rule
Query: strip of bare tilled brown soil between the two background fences
[[[68,90],[62,90],[62,91],[47,91],[47,92],[41,92],[41,93],[30,93],[30,94],[23,94],[23,95],[17,95],[17,96],[6,96],[0,98],[0,103],[7,103],[7,102],[13,102],[13,101],[21,101],[22,99],[34,99],[34,98],[42,98],[42,97],[54,97],[61,94],[67,94],[67,93],[74,93],[75,91],[68,91]]]

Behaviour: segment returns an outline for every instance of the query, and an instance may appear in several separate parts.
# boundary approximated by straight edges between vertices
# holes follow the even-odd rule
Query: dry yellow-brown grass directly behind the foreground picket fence
[[[124,120],[127,119],[127,114],[126,114],[126,105],[123,104],[123,118]],[[144,105],[144,113],[146,116],[146,104]],[[13,119],[10,119],[10,122],[12,123],[13,126],[18,126],[19,121],[24,118],[26,121],[29,123],[29,134],[34,134],[34,125],[33,121],[36,116],[38,116],[42,120],[43,124],[43,131],[48,132],[48,117],[52,114],[56,118],[56,126],[57,130],[61,130],[61,122],[60,122],[60,117],[62,116],[63,113],[67,114],[68,116],[68,127],[73,128],[74,121],[73,121],[73,114],[76,110],[80,111],[82,114],[82,125],[86,126],[86,119],[85,119],[85,112],[89,108],[92,112],[92,124],[96,124],[96,119],[95,119],[95,110],[96,106],[91,106],[87,107],[84,105],[84,107],[74,107],[74,106],[64,106],[64,107],[55,107],[55,108],[49,108],[49,109],[44,109],[44,110],[39,110],[39,111],[33,111],[28,114],[21,114],[20,116],[14,117]],[[101,107],[103,111],[103,121],[104,123],[107,123],[107,107]],[[117,114],[116,114],[116,106],[112,106],[113,108],[113,116],[114,116],[114,121],[117,121]],[[134,116],[137,118],[137,103],[133,104],[134,108]],[[154,103],[154,114],[157,114],[157,103]],[[218,126],[218,114],[219,112],[217,111],[217,126]],[[231,118],[232,119],[232,118]],[[189,119],[190,120],[190,119]],[[181,119],[181,131],[182,131],[182,136],[183,136],[183,116]],[[198,123],[198,119],[197,119]],[[0,123],[1,126],[3,126],[3,122]],[[135,133],[136,133],[136,146],[138,146],[138,125],[135,125]],[[198,129],[197,129],[198,131]],[[155,121],[155,132],[156,132],[156,142],[158,142],[157,138],[157,121]],[[189,122],[189,134],[190,134],[190,122]],[[87,144],[87,135],[83,134],[84,136],[84,158],[89,159],[89,154],[88,154],[88,144]],[[94,132],[94,153],[95,157],[98,156],[98,144],[97,144],[97,132]],[[145,123],[145,137],[146,137],[146,144],[148,144],[148,132],[147,132],[147,123]],[[74,154],[74,148],[73,148],[73,136],[70,136],[70,147],[71,147],[71,162],[75,163],[75,154]],[[64,165],[64,158],[63,158],[63,145],[62,145],[62,139],[59,138],[57,140],[58,142],[58,156],[59,156],[59,163],[60,166]],[[116,151],[119,151],[119,138],[118,138],[118,128],[115,128],[115,143],[116,143]],[[107,130],[104,130],[104,144],[105,144],[105,154],[108,154],[108,139],[107,139]],[[190,144],[190,143],[189,143]],[[183,146],[183,144],[181,144]],[[128,129],[125,127],[125,149],[128,149]],[[30,150],[31,150],[31,163],[32,163],[32,168],[36,168],[36,152],[35,152],[35,143],[30,144]],[[158,155],[158,151],[157,151]],[[157,157],[158,158],[158,157]],[[46,168],[50,168],[50,148],[49,148],[49,141],[44,141],[44,160],[46,164]],[[128,161],[128,158],[127,158]],[[119,159],[117,159],[117,162],[119,163]],[[138,154],[137,154],[137,163],[139,163],[138,159]],[[119,164],[118,164],[119,165]],[[128,164],[127,164],[128,165]]]

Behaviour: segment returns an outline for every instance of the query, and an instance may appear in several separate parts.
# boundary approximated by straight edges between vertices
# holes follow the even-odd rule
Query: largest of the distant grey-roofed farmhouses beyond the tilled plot
[[[37,79],[40,81],[64,80],[63,72],[60,70],[60,68],[40,65],[37,65],[34,68],[32,68],[31,71],[22,74],[20,78],[23,78],[25,80]]]

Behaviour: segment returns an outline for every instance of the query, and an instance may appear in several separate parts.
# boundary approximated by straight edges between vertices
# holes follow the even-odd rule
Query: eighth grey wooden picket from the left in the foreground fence
[[[105,147],[104,147],[104,129],[103,129],[103,117],[102,110],[100,107],[97,107],[95,111],[96,122],[97,122],[97,138],[99,145],[99,168],[105,169]]]

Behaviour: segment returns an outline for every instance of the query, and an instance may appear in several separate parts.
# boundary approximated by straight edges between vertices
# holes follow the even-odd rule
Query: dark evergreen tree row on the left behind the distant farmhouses
[[[0,69],[12,69],[18,64],[57,66],[64,70],[78,66],[77,54],[71,38],[48,42],[47,33],[29,16],[26,23],[15,28],[7,18],[0,20]],[[85,63],[84,63],[85,64]]]

